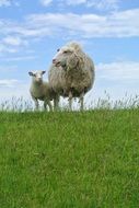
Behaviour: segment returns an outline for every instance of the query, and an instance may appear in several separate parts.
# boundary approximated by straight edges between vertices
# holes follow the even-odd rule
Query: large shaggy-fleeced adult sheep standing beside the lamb
[[[80,109],[83,109],[84,94],[94,83],[94,63],[78,43],[69,43],[57,51],[48,73],[50,88],[57,94],[55,107],[61,95],[69,97],[70,109],[72,99],[79,97]]]

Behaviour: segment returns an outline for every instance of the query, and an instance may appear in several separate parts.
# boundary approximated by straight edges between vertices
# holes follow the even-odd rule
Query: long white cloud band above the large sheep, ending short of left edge
[[[115,12],[107,15],[45,13],[27,16],[34,35],[66,34],[69,36],[92,37],[131,37],[139,36],[139,9]],[[80,25],[80,26],[79,26]],[[40,32],[40,33],[39,33]],[[33,35],[33,33],[32,33]]]

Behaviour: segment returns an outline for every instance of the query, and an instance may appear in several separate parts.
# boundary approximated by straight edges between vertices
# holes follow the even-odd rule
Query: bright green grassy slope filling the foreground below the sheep
[[[0,113],[0,208],[139,206],[139,112]]]

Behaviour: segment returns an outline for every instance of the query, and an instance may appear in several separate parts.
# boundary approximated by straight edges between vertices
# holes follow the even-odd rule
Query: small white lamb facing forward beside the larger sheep
[[[53,91],[48,82],[43,81],[43,74],[46,71],[30,71],[28,74],[32,77],[32,83],[30,88],[30,93],[35,102],[35,107],[38,109],[38,100],[44,101],[44,108],[46,109],[47,105],[49,109],[53,111],[50,101],[53,100]]]

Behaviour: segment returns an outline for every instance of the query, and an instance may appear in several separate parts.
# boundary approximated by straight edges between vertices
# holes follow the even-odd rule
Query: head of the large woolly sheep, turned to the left
[[[77,59],[76,53],[73,48],[69,48],[69,47],[62,47],[61,49],[58,49],[58,53],[53,59],[53,63],[56,67],[61,66],[62,68],[67,68],[69,65],[74,67],[77,66],[77,62],[78,62],[78,59]]]

